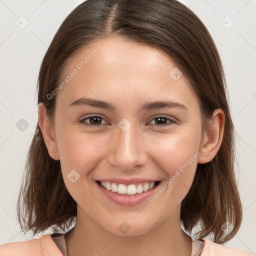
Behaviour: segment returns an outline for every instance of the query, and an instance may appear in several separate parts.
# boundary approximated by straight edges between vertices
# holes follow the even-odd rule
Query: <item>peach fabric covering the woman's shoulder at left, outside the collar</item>
[[[0,255],[2,256],[63,256],[52,239],[51,234],[44,234],[40,238],[21,242],[9,242],[0,244]]]

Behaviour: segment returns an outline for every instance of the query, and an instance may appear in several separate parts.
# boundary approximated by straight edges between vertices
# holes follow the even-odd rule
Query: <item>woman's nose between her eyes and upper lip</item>
[[[135,125],[124,131],[117,127],[114,137],[109,141],[107,162],[123,171],[134,170],[147,162],[148,148]]]

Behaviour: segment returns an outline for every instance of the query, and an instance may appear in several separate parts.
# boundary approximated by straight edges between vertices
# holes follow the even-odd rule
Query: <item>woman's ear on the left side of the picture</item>
[[[42,131],[43,139],[50,157],[54,160],[59,160],[57,144],[52,131],[52,123],[46,116],[45,107],[42,102],[38,105],[38,125]]]

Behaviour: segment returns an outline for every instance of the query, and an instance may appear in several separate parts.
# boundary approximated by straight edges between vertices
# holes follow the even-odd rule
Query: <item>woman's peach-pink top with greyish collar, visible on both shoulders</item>
[[[241,250],[225,247],[207,239],[194,240],[192,238],[191,256],[255,256]],[[201,246],[202,244],[202,246]],[[202,248],[201,248],[202,247]],[[199,250],[200,254],[196,254]],[[62,251],[62,252],[61,252]],[[52,237],[44,234],[40,238],[20,242],[0,244],[0,256],[67,256],[64,235]]]

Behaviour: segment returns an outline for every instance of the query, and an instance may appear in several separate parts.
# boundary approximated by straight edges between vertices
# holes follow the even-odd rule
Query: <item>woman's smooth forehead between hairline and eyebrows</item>
[[[189,81],[184,75],[174,79],[173,72],[182,74],[158,48],[123,37],[97,39],[71,56],[60,79],[66,83],[57,98],[68,104],[81,96],[111,97],[116,102],[120,98],[148,101],[193,96]]]

